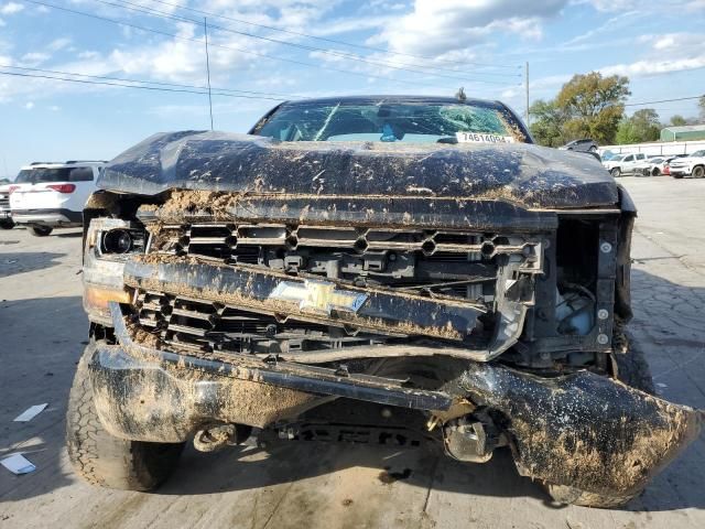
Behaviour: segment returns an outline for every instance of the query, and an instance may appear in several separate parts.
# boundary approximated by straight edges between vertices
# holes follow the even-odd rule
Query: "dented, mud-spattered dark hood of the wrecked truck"
[[[273,196],[494,199],[522,208],[618,202],[592,155],[529,143],[282,142],[226,132],[154,134],[112,160],[98,187],[142,195],[204,190]]]

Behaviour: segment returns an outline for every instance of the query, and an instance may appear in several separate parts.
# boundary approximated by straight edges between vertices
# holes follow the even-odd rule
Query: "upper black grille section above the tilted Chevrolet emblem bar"
[[[535,245],[497,234],[205,224],[164,226],[150,251],[491,302],[498,262],[538,264]]]

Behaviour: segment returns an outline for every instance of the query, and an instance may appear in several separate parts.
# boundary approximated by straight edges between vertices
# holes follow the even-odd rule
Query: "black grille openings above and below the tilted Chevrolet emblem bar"
[[[422,315],[401,314],[384,305],[384,313],[367,314],[366,324],[332,314],[329,319],[304,313],[280,314],[257,305],[213,302],[189,292],[175,295],[154,285],[141,287],[135,313],[140,324],[167,344],[200,350],[278,353],[338,349],[347,346],[394,343],[435,336],[488,344],[496,331],[497,284],[520,274],[541,271],[538,236],[452,230],[382,229],[329,226],[236,225],[203,223],[162,225],[152,230],[148,245],[150,262],[196,258],[218,267],[243,267],[261,271],[275,283],[334,282],[336,289],[365,289],[427,299],[436,309]],[[154,260],[154,257],[156,260]],[[510,270],[510,272],[508,272]],[[273,276],[272,276],[273,274]],[[294,287],[300,283],[294,283]],[[522,283],[523,284],[523,283]],[[521,289],[516,289],[521,290]],[[525,292],[519,302],[531,298]],[[217,299],[217,298],[215,298]],[[453,306],[462,307],[453,309]],[[226,304],[228,303],[228,304]],[[442,305],[449,303],[449,305]],[[455,305],[454,305],[455,303]],[[467,303],[467,304],[466,304]],[[411,305],[406,305],[411,306]],[[452,326],[454,311],[479,311],[479,323]],[[399,309],[397,309],[399,310]],[[433,311],[438,312],[437,315]],[[335,312],[335,310],[334,310]],[[421,313],[419,313],[421,314]],[[463,313],[467,316],[467,312]],[[437,317],[437,320],[436,320]],[[370,320],[371,319],[371,320]],[[394,327],[376,323],[425,319],[424,325]],[[391,319],[391,320],[390,320]],[[415,320],[414,320],[415,319]],[[387,326],[384,326],[387,325]],[[434,327],[435,325],[435,327]],[[425,331],[424,331],[425,328]]]

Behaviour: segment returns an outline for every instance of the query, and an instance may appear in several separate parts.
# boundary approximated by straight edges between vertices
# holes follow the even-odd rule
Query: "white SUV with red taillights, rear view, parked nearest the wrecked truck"
[[[96,191],[96,180],[105,164],[35,162],[22,168],[10,186],[12,220],[40,237],[55,227],[80,226],[84,205]]]

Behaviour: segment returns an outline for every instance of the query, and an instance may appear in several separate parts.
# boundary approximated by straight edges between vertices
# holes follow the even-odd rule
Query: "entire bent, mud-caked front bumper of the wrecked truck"
[[[429,391],[246,355],[181,355],[133,342],[120,306],[110,311],[118,344],[90,345],[89,369],[101,421],[126,439],[181,442],[214,423],[263,428],[337,397],[436,417],[469,401],[492,410],[522,475],[628,496],[696,439],[703,422],[703,411],[589,371],[542,378],[468,361],[455,380]]]

